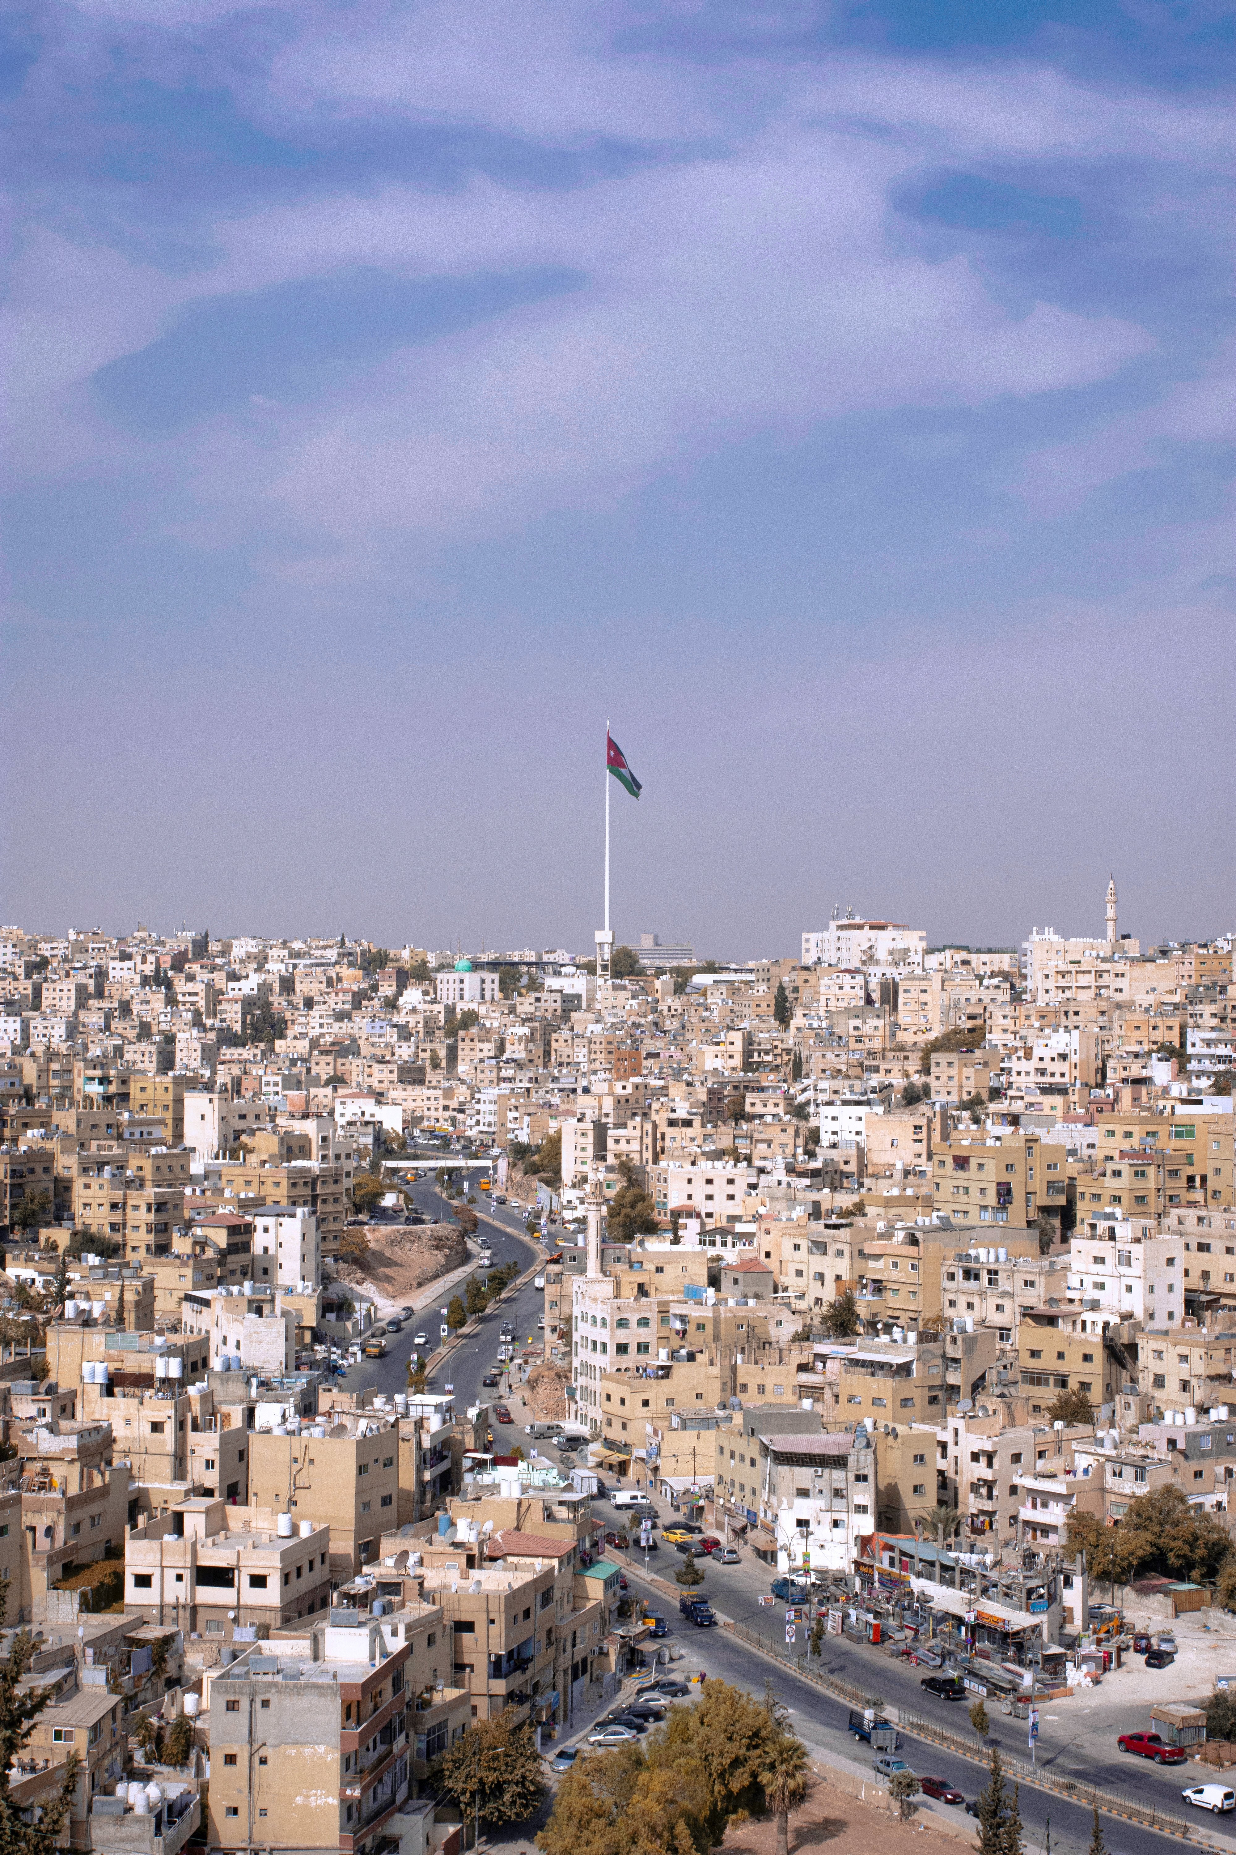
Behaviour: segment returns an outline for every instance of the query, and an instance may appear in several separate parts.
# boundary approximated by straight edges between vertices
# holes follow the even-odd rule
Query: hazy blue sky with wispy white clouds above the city
[[[1227,0],[7,22],[4,920],[1234,924]]]

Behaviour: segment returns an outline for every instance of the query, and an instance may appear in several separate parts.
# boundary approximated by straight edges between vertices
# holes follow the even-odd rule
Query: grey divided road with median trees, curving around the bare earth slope
[[[460,1161],[461,1171],[467,1171],[467,1161]],[[480,1178],[480,1172],[467,1172],[469,1189]],[[539,1261],[543,1250],[539,1243],[530,1241],[524,1235],[523,1215],[511,1206],[495,1204],[489,1206],[482,1200],[487,1193],[476,1191],[476,1215],[480,1219],[482,1230],[487,1230],[491,1237],[491,1261],[493,1265],[517,1261],[521,1271],[528,1269],[534,1261]],[[443,1198],[437,1185],[428,1180],[417,1180],[411,1185],[411,1202],[419,1211],[435,1222],[445,1222],[452,1211],[454,1204],[450,1198]],[[480,1269],[480,1261],[476,1269]],[[439,1289],[434,1284],[426,1284],[417,1289],[410,1298],[410,1306],[417,1308],[417,1317],[408,1321],[402,1334],[393,1334],[389,1341],[389,1350],[382,1360],[361,1360],[359,1365],[348,1369],[343,1384],[348,1391],[363,1391],[372,1386],[374,1391],[384,1391],[393,1395],[395,1391],[408,1389],[408,1358],[415,1350],[413,1334],[426,1332],[430,1336],[430,1345],[437,1345],[437,1326],[441,1323],[439,1308],[450,1300],[454,1289]],[[504,1321],[511,1321],[515,1326],[517,1345],[532,1343],[536,1345],[541,1337],[537,1328],[537,1319],[545,1306],[545,1295],[539,1287],[521,1287],[510,1298],[493,1304],[484,1315],[480,1324],[480,1334],[476,1337],[463,1339],[450,1352],[448,1367],[437,1367],[430,1371],[428,1388],[430,1391],[441,1391],[447,1384],[454,1386],[456,1408],[463,1410],[480,1399],[495,1401],[504,1397],[506,1391],[482,1391],[480,1380],[497,1363],[498,1352],[498,1328]],[[502,1386],[510,1386],[510,1378],[502,1376]],[[511,1436],[515,1432],[510,1432]]]

